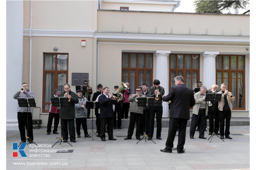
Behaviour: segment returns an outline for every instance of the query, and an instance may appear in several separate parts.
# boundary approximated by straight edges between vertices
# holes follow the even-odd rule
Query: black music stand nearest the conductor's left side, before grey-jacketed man
[[[147,117],[147,110],[145,109],[145,106],[153,106],[154,105],[154,98],[152,97],[147,97],[147,98],[138,98],[138,102],[137,102],[138,106],[144,106],[144,110],[145,110],[145,119],[144,119],[144,131],[143,131],[143,138],[140,139],[136,144],[138,144],[140,141],[142,141],[143,139],[148,139],[148,136],[146,134],[146,127],[147,127],[147,123],[146,123],[146,117]],[[154,142],[151,139],[152,142]],[[155,142],[154,142],[155,143]]]

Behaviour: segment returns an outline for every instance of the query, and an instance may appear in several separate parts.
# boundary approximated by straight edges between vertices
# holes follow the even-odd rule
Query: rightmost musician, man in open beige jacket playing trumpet
[[[221,139],[225,138],[232,139],[230,135],[230,119],[231,119],[231,111],[232,111],[232,102],[235,101],[235,97],[232,95],[231,92],[227,91],[227,84],[221,84],[221,91],[218,92],[222,94],[221,100],[219,101],[219,134],[221,135]],[[232,95],[232,97],[231,97]],[[226,129],[224,133],[224,124],[226,119]]]

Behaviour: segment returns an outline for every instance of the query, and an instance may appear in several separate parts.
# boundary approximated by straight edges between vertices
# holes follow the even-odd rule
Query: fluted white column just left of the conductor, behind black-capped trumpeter
[[[171,51],[155,51],[157,56],[157,69],[156,69],[156,78],[160,81],[160,86],[165,88],[165,94],[169,93],[169,79],[168,79],[168,57]],[[163,102],[163,118],[169,117],[169,107],[167,102]]]

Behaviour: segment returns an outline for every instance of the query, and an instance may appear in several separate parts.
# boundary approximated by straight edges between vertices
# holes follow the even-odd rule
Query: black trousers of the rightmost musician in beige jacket
[[[224,126],[225,126],[225,119],[226,119],[226,128],[225,128],[225,133],[224,133]],[[231,111],[224,110],[224,111],[219,111],[219,134],[223,137],[228,137],[230,135],[230,119],[231,119]]]

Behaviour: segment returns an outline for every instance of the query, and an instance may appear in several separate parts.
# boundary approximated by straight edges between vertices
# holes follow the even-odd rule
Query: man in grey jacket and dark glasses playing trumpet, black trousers
[[[137,101],[138,98],[140,97],[146,97],[145,95],[142,94],[142,88],[137,87],[136,88],[136,94],[132,94],[129,98],[128,101],[131,102],[130,106],[130,122],[129,122],[129,128],[128,128],[128,135],[124,140],[132,139],[132,134],[134,131],[135,123],[136,123],[136,134],[135,137],[136,139],[140,140],[140,124],[142,124],[143,121],[143,106],[138,106]]]

